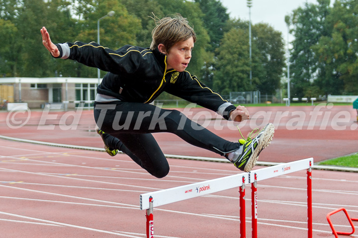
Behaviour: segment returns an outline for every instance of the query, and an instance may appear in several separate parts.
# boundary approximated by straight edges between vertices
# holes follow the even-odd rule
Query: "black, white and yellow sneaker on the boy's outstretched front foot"
[[[258,131],[259,129],[255,130]],[[238,150],[240,153],[232,159],[234,165],[245,172],[251,171],[251,169],[255,166],[256,161],[259,159],[260,152],[269,146],[272,141],[274,126],[271,123],[267,124],[255,138],[251,139],[255,130],[250,133],[248,139],[239,140],[240,144],[242,144]],[[254,135],[256,133],[254,133]]]

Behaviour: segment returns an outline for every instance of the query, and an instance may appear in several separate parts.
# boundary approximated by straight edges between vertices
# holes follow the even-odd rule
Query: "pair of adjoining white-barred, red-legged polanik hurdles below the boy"
[[[146,210],[147,238],[154,238],[153,208],[231,188],[240,187],[240,237],[246,238],[245,184],[252,184],[252,238],[257,238],[257,181],[307,169],[308,238],[312,238],[313,158],[301,159],[222,178],[187,184],[140,195],[140,209]]]

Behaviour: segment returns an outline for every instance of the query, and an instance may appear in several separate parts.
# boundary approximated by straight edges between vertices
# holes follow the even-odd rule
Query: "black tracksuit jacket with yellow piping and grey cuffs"
[[[114,51],[94,42],[67,42],[57,47],[58,58],[108,72],[97,87],[99,94],[121,101],[150,103],[166,91],[218,112],[225,119],[236,108],[189,72],[167,69],[166,55],[158,49],[125,45]]]

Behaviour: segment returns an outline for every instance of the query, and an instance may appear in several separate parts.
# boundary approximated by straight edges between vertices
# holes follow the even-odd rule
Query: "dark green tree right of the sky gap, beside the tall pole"
[[[313,47],[320,37],[327,34],[325,19],[328,14],[329,0],[318,0],[318,4],[305,3],[289,16],[286,23],[292,25],[292,50],[290,50],[291,94],[295,97],[309,96],[308,90],[315,79],[323,74],[323,66],[318,64]]]

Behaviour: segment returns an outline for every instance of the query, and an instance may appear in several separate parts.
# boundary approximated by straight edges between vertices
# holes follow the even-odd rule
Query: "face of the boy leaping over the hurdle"
[[[192,37],[185,41],[179,41],[167,52],[167,69],[183,72],[191,58],[191,49],[194,47]]]

